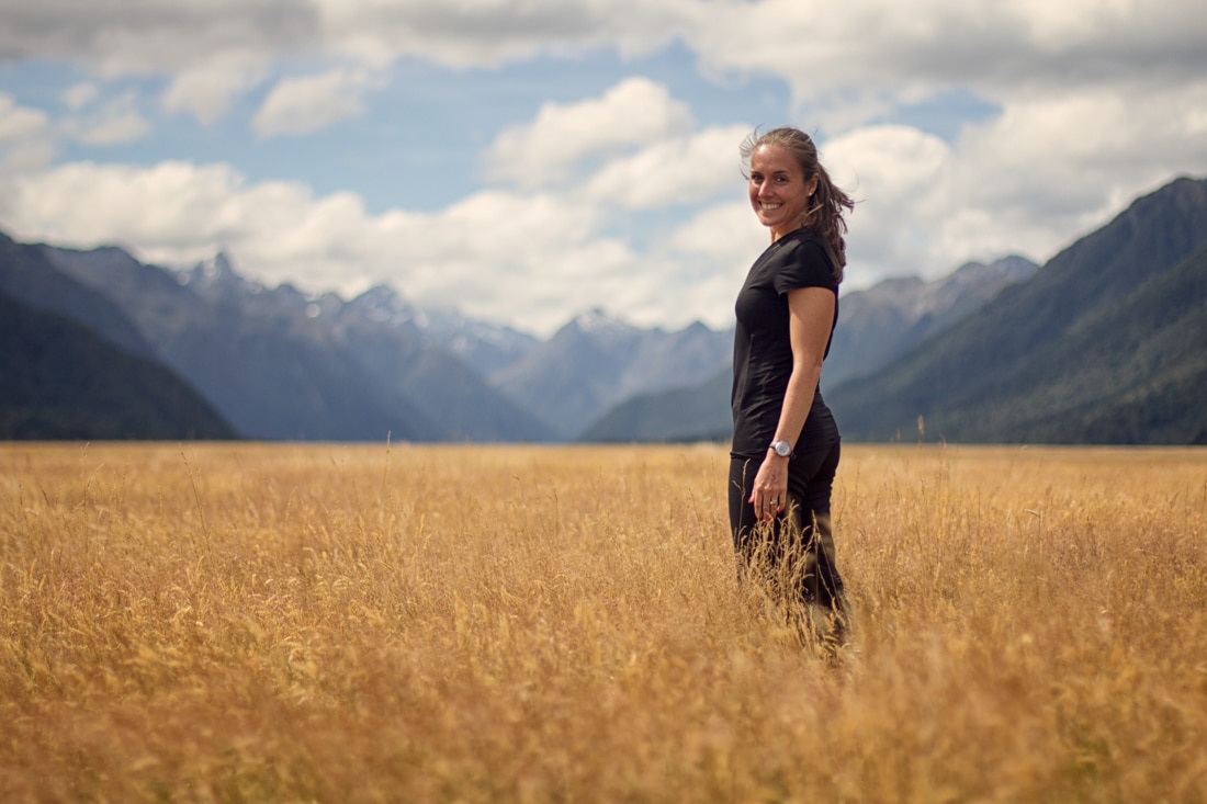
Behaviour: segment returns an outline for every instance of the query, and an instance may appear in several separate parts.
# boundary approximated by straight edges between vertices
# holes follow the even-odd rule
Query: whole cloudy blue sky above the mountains
[[[845,290],[1043,263],[1207,176],[1200,0],[0,0],[0,231],[546,337],[728,327],[739,146],[814,135]]]

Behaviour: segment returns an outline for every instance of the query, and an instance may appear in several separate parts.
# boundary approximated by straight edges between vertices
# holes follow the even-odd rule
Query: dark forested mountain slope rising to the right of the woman
[[[1207,353],[1195,324],[1205,246],[1207,181],[1137,199],[975,315],[834,389],[844,437],[891,439],[921,416],[926,432],[960,442],[1195,443],[1207,410],[1202,394],[1188,396]],[[1090,424],[1168,394],[1184,415],[1160,433]]]

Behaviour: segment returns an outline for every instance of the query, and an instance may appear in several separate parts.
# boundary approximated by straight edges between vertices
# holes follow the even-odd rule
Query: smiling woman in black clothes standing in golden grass
[[[846,264],[842,214],[855,205],[798,129],[752,134],[741,153],[751,206],[771,245],[735,307],[734,547],[744,570],[762,575],[793,610],[829,614],[818,636],[841,641],[846,617],[829,515],[839,432],[818,379]],[[809,623],[816,627],[812,616]]]

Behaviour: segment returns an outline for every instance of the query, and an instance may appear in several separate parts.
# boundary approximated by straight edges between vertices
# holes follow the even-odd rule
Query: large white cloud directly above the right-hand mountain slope
[[[1051,257],[1177,174],[1207,174],[1207,80],[1037,97],[970,127],[932,200],[932,250]]]

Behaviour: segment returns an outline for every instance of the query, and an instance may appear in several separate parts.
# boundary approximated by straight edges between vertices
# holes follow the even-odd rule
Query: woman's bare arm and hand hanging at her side
[[[786,441],[797,448],[797,439],[814,406],[814,395],[822,375],[826,343],[834,324],[834,291],[826,287],[800,287],[788,291],[788,337],[792,340],[792,375],[783,395],[780,424],[774,441]],[[760,520],[783,511],[788,496],[788,458],[768,449],[754,476],[750,502]],[[775,505],[771,505],[775,500]]]

